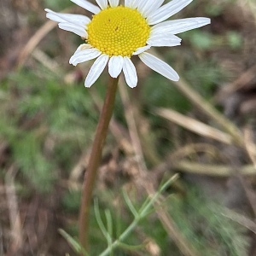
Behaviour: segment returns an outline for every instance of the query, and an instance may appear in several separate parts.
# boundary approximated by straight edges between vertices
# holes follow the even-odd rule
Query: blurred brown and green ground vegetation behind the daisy
[[[55,28],[44,8],[90,15],[69,0],[1,0],[0,255],[76,255],[59,230],[78,236],[80,188],[108,79],[103,73],[84,88],[90,63],[68,64],[83,41]],[[112,255],[256,255],[255,14],[253,0],[195,0],[173,18],[212,24],[180,34],[182,46],[155,49],[181,81],[137,59],[137,88],[121,80],[95,189],[100,214],[111,212],[113,240],[132,221],[122,190],[138,209],[147,182],[157,190],[180,176]],[[137,178],[142,166],[148,181]],[[108,245],[95,212],[91,219],[91,255],[100,255]]]

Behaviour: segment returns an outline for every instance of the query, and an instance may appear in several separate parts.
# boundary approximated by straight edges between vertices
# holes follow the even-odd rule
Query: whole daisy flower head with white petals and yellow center
[[[208,18],[167,20],[193,0],[96,0],[97,6],[86,0],[71,0],[92,13],[91,19],[84,15],[55,13],[45,9],[47,17],[59,23],[63,30],[73,32],[84,39],[70,58],[77,64],[96,59],[90,67],[84,85],[90,87],[108,65],[108,73],[117,78],[121,72],[126,83],[137,85],[137,72],[131,56],[137,55],[144,64],[167,79],[177,81],[176,71],[166,62],[147,52],[151,47],[177,46],[181,38],[177,33],[205,26]],[[166,21],[165,21],[166,20]]]

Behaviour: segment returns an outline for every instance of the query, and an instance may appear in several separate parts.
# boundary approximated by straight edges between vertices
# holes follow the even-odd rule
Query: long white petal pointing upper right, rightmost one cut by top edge
[[[172,15],[177,14],[181,9],[185,8],[193,0],[172,0],[169,3],[161,6],[160,9],[148,15],[148,25],[160,23],[163,20],[170,18]]]

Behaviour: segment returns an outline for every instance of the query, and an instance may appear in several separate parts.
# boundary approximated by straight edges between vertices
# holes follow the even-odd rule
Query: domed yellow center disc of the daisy
[[[103,9],[87,27],[87,43],[109,56],[131,57],[146,45],[150,27],[137,9],[124,6]]]

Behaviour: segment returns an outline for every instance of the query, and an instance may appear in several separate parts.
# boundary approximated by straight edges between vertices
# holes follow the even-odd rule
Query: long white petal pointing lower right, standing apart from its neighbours
[[[155,72],[166,77],[166,79],[178,81],[179,77],[177,72],[166,64],[165,61],[161,61],[159,58],[155,57],[154,55],[150,55],[147,52],[143,52],[143,54],[138,56],[144,64],[153,69]]]

